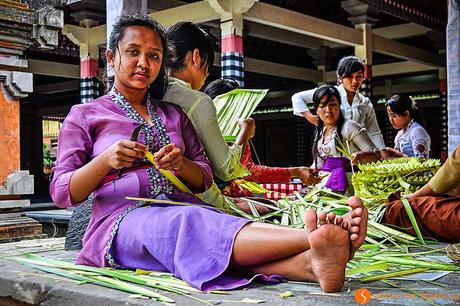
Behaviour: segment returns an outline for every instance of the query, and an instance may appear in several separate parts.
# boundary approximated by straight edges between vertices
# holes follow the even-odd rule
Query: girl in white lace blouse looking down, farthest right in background
[[[390,156],[428,158],[431,139],[420,124],[420,114],[415,101],[410,96],[396,94],[387,101],[385,106],[391,125],[399,130],[396,134],[394,149],[387,148]]]

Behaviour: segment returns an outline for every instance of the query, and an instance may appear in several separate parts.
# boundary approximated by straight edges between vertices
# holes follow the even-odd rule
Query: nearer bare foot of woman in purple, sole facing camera
[[[350,252],[349,233],[337,225],[324,224],[308,236],[311,268],[324,292],[343,287]]]

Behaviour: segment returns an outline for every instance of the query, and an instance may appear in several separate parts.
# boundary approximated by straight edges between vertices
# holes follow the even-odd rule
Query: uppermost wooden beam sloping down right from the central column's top
[[[363,43],[359,30],[266,3],[254,4],[243,17],[245,20],[348,46]]]

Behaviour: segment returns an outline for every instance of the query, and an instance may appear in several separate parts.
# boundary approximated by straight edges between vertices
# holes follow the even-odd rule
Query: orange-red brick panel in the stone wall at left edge
[[[20,165],[19,99],[7,100],[0,84],[0,185]]]

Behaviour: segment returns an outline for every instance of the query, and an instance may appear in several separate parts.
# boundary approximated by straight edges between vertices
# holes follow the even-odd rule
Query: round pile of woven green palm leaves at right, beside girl
[[[415,192],[428,183],[440,166],[438,159],[416,157],[359,164],[360,171],[352,179],[355,195],[386,199],[396,191],[403,195]]]

